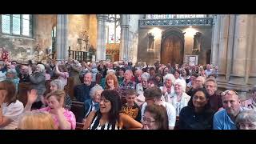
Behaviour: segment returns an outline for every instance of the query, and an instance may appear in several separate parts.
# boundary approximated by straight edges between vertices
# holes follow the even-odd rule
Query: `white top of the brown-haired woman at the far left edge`
[[[6,118],[10,118],[12,122],[9,125],[0,127],[0,130],[15,130],[18,127],[19,118],[22,115],[24,106],[18,100],[7,106],[7,103],[2,104],[2,114]]]

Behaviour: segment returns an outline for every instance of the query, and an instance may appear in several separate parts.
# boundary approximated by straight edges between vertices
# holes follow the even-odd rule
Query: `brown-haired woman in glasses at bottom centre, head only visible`
[[[143,130],[169,130],[168,115],[166,108],[162,105],[146,106],[142,116]]]

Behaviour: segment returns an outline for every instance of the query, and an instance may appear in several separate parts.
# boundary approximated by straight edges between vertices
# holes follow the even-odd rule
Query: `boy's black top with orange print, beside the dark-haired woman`
[[[122,112],[128,114],[130,118],[134,118],[137,122],[141,122],[142,112],[136,103],[132,107],[128,107],[127,104],[125,104],[122,106]]]

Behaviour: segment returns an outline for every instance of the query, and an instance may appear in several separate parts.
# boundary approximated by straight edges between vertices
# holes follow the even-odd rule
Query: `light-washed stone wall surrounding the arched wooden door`
[[[172,26],[148,26],[141,27],[138,30],[138,62],[146,62],[147,64],[154,64],[157,60],[160,61],[161,58],[161,39],[162,31],[170,29]],[[211,49],[211,37],[212,37],[212,27],[211,26],[175,26],[186,32],[184,34],[185,43],[184,43],[184,62],[186,55],[192,54],[192,48],[194,45],[194,34],[196,32],[202,33],[202,50],[198,55],[198,63],[206,64],[206,52]],[[154,51],[147,51],[147,34],[154,33]]]

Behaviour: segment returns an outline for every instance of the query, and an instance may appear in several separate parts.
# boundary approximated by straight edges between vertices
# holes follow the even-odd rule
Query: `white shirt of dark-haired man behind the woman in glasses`
[[[145,108],[147,106],[147,103],[145,102],[142,105],[142,115],[144,115],[145,112]],[[176,110],[174,108],[174,106],[172,106],[170,103],[168,102],[162,102],[162,106],[166,107],[166,111],[167,111],[167,115],[168,115],[168,122],[169,122],[169,127],[170,126],[175,126],[175,122],[176,122]],[[141,119],[142,122],[142,119]]]

